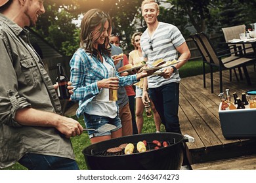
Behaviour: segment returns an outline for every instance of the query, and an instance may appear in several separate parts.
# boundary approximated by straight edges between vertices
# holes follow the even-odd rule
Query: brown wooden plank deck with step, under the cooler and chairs
[[[256,89],[256,73],[253,66],[247,67],[251,86],[244,80],[237,81],[232,72],[223,72],[223,90],[230,89],[241,96],[242,92]],[[206,75],[206,88],[203,76],[182,78],[180,85],[179,118],[182,134],[195,138],[194,143],[186,142],[186,154],[192,169],[255,169],[256,139],[232,139],[223,137],[219,120],[219,72],[213,74],[214,93],[211,93],[209,74]],[[256,119],[255,119],[256,123]],[[249,158],[247,158],[249,156]],[[241,162],[244,159],[246,166]],[[249,165],[248,165],[248,162]],[[232,165],[231,167],[227,165]]]

